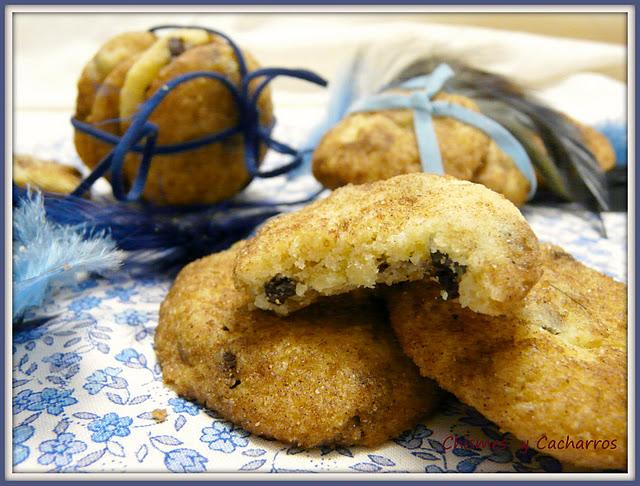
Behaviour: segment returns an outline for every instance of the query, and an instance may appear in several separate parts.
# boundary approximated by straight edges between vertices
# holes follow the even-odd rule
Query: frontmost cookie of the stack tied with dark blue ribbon
[[[248,68],[258,64],[245,53]],[[231,48],[221,40],[188,49],[165,66],[149,87],[148,96],[164,83],[192,71],[212,71],[239,82],[238,66]],[[255,83],[252,84],[255,88]],[[269,89],[258,101],[260,122],[273,121]],[[195,79],[178,86],[158,106],[149,121],[158,126],[159,144],[178,143],[231,128],[238,112],[231,94],[221,83]],[[123,127],[125,128],[125,127]],[[263,149],[264,155],[264,149]],[[125,172],[133,180],[138,170],[137,156],[127,158]],[[242,136],[196,150],[154,157],[144,197],[159,204],[213,203],[227,199],[242,189],[249,180],[244,164]]]

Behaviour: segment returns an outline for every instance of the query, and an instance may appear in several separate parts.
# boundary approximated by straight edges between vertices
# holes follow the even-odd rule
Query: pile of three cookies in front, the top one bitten
[[[185,267],[156,350],[178,394],[283,442],[378,445],[442,387],[523,441],[591,441],[560,460],[620,469],[626,323],[626,287],[540,244],[505,197],[414,173]]]

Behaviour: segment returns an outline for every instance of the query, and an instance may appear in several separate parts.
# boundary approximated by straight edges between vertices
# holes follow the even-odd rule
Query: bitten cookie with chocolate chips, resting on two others
[[[321,296],[432,278],[474,311],[502,314],[538,280],[538,241],[486,187],[415,173],[344,186],[267,222],[239,252],[236,285],[288,314]]]

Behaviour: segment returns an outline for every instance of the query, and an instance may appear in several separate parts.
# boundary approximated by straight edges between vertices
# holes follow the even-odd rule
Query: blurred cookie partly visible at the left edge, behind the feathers
[[[13,156],[13,182],[20,187],[30,186],[47,192],[69,194],[81,180],[80,172],[68,165],[30,155]]]

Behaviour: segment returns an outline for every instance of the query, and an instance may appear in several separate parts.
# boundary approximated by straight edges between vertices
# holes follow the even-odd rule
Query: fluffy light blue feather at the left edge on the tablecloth
[[[122,257],[106,231],[52,223],[42,194],[27,193],[13,211],[13,320],[42,304],[54,282],[114,270]]]

